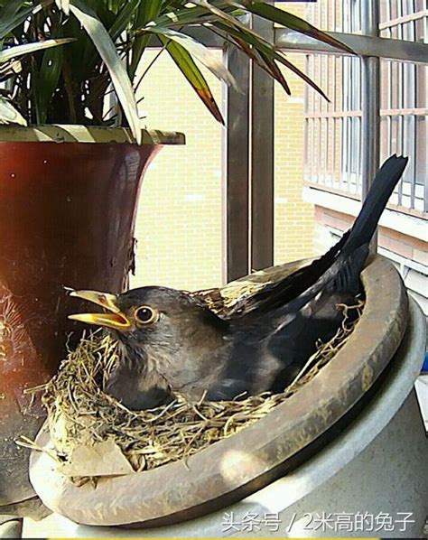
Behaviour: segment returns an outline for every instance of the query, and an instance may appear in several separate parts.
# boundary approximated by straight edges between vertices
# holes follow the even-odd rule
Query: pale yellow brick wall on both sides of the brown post
[[[287,9],[302,14],[302,5]],[[154,51],[147,52],[142,70],[153,56]],[[290,59],[304,69],[303,55]],[[220,105],[221,84],[205,70],[204,74]],[[284,74],[293,96],[286,97],[275,85],[275,263],[313,253],[312,205],[302,201],[303,84],[288,70]],[[144,78],[140,95],[146,125],[182,131],[187,144],[163,148],[146,172],[131,286],[217,286],[222,280],[222,127],[165,53]]]

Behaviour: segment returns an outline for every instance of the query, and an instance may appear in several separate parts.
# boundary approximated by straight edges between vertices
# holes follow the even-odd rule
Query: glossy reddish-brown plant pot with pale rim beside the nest
[[[77,330],[67,315],[82,306],[64,286],[125,288],[144,171],[183,136],[145,132],[138,146],[122,129],[51,126],[0,140],[1,506],[33,494],[14,439],[41,423],[23,390],[51,377]]]

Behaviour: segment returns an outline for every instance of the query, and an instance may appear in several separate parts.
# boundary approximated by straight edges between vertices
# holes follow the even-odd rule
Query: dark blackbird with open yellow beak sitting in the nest
[[[340,304],[363,294],[360,273],[377,222],[408,158],[392,155],[377,172],[353,226],[321,257],[214,312],[198,295],[162,286],[126,293],[73,290],[105,312],[69,318],[105,327],[119,357],[105,391],[130,410],[187,400],[223,401],[281,392],[319,340],[340,328]]]

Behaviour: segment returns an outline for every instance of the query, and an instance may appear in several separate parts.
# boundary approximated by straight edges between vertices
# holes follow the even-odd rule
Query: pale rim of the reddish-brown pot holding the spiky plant
[[[142,129],[142,144],[185,144],[181,132]],[[51,124],[46,126],[0,126],[0,142],[136,144],[126,127]]]

